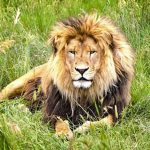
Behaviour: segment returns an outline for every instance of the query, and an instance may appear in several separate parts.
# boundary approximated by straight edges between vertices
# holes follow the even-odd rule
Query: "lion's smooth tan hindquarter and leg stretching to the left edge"
[[[16,94],[24,92],[24,86],[29,81],[36,77],[41,77],[43,71],[47,66],[46,64],[40,65],[35,67],[34,69],[30,70],[25,75],[21,76],[20,78],[16,79],[15,81],[8,84],[1,92],[0,92],[0,101],[9,98],[11,96],[15,96]]]

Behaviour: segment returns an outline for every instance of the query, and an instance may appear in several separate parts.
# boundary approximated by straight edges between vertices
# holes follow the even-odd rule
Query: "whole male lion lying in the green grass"
[[[134,76],[134,51],[120,29],[107,17],[84,14],[58,22],[48,43],[49,61],[6,86],[0,100],[22,94],[33,101],[36,92],[44,121],[58,135],[72,136],[68,121],[78,132],[117,122]]]

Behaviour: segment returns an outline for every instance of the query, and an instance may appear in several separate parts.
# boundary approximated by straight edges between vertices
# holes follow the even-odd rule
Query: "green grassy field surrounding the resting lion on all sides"
[[[148,0],[0,0],[0,89],[46,62],[51,27],[57,20],[83,11],[110,16],[136,52],[132,102],[121,123],[113,128],[95,127],[67,141],[56,138],[42,123],[42,111],[31,114],[22,99],[6,101],[0,104],[0,150],[150,150],[148,10]]]

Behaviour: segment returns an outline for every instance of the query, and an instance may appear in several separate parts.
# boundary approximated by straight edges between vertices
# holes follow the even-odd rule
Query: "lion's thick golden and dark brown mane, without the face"
[[[104,51],[99,73],[89,89],[73,86],[64,63],[65,45],[78,35],[92,37]],[[47,95],[45,120],[60,116],[78,123],[80,115],[90,118],[104,117],[108,113],[117,120],[119,117],[115,116],[115,112],[120,115],[130,101],[134,74],[134,53],[120,29],[106,17],[82,15],[58,22],[51,32],[49,43],[53,54],[42,77],[42,89]]]

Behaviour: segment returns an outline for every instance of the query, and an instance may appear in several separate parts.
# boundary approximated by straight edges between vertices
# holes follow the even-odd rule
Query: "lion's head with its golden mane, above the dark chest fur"
[[[115,86],[124,73],[133,75],[133,53],[108,18],[83,15],[59,22],[51,32],[53,55],[43,88],[50,82],[70,99],[94,99]]]

